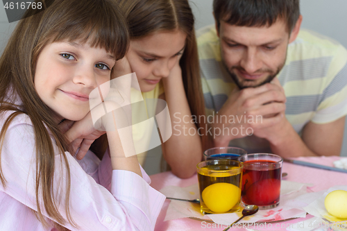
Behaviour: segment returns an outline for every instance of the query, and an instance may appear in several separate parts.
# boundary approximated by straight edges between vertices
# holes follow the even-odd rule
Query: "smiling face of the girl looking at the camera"
[[[90,112],[89,95],[110,80],[115,58],[88,43],[53,42],[37,58],[34,84],[58,119],[78,121]]]

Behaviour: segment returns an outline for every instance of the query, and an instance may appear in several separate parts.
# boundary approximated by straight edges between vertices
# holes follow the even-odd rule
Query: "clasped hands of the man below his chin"
[[[215,116],[218,118],[214,118],[213,131],[216,132],[216,128],[221,131],[214,143],[228,146],[231,139],[246,137],[250,132],[271,142],[287,121],[285,102],[285,93],[277,78],[260,87],[235,89]]]

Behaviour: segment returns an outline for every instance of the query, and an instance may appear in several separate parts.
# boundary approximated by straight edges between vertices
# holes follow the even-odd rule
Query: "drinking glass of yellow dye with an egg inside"
[[[218,159],[200,162],[196,167],[201,212],[221,214],[239,211],[244,164]]]

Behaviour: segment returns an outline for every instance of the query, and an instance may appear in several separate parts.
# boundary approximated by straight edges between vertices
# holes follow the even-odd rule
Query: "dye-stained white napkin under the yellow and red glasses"
[[[307,203],[301,200],[295,200],[296,197],[307,194],[307,187],[312,185],[301,184],[282,180],[280,192],[280,205],[274,209],[260,210],[253,216],[247,216],[242,221],[244,223],[253,223],[257,221],[275,221],[289,219],[293,217],[305,217],[306,212],[303,209]],[[198,184],[189,187],[167,186],[160,190],[167,197],[182,198],[192,200],[199,198]],[[185,217],[196,217],[198,219],[211,219],[214,223],[230,225],[230,221],[236,221],[242,216],[241,212],[229,214],[208,214],[203,215],[200,212],[200,205],[185,201],[171,200],[167,209],[164,221],[181,219]]]

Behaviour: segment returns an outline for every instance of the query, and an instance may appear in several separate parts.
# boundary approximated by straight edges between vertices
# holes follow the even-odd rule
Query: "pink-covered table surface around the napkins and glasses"
[[[305,162],[313,162],[316,164],[324,164],[327,166],[333,166],[332,162],[339,160],[341,157],[331,156],[331,157],[297,157],[293,158],[294,160],[302,160]],[[288,173],[288,176],[285,180],[301,182],[301,183],[310,183],[313,184],[313,187],[310,187],[312,191],[321,191],[329,189],[335,185],[347,185],[347,173],[339,173],[335,171],[328,171],[323,169],[314,169],[307,166],[301,166],[297,164],[291,164],[284,162],[282,166],[282,172]],[[171,171],[164,173],[158,173],[151,175],[151,186],[154,189],[160,190],[163,187],[174,185],[178,187],[188,187],[189,185],[194,185],[198,181],[197,176],[194,175],[192,178],[180,179],[174,176]],[[162,210],[158,216],[157,223],[155,225],[155,231],[176,231],[176,230],[185,230],[185,231],[196,231],[196,230],[223,230],[221,226],[219,228],[208,228],[205,223],[202,221],[196,221],[193,219],[176,219],[171,221],[164,221],[167,207],[169,206],[170,200],[165,200]],[[285,227],[287,223],[298,223],[310,219],[312,216],[309,214],[305,219],[294,219],[291,221],[282,222],[282,227]],[[210,226],[211,227],[211,226]],[[232,229],[230,229],[232,230]],[[246,229],[239,229],[246,230]],[[257,228],[256,230],[286,230],[285,228]]]

